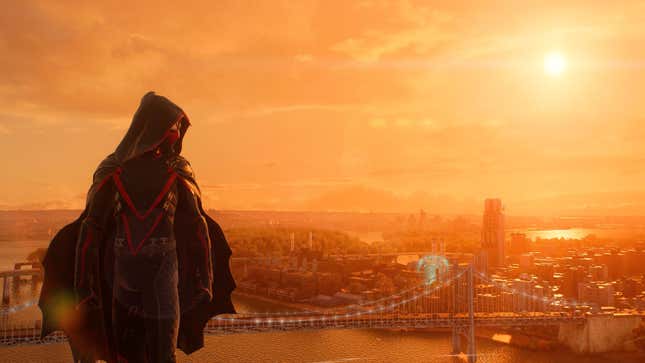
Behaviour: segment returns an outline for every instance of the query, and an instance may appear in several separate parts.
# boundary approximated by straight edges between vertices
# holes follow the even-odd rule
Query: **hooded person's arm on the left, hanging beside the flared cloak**
[[[97,296],[96,288],[100,278],[96,274],[99,247],[105,234],[107,219],[112,217],[115,193],[112,178],[107,176],[89,196],[87,214],[81,222],[76,242],[74,261],[74,289],[78,304]]]

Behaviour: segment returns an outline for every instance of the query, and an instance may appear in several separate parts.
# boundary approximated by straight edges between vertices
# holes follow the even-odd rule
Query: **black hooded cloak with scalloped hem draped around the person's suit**
[[[178,120],[183,120],[180,126],[180,139],[174,147],[171,167],[182,179],[184,185],[198,197],[199,210],[208,224],[210,237],[211,259],[213,266],[213,298],[190,309],[181,309],[177,348],[190,354],[204,346],[203,329],[206,322],[218,314],[233,314],[235,308],[231,302],[231,292],[235,289],[235,281],[231,275],[229,259],[231,249],[220,226],[204,211],[199,197],[199,187],[195,181],[190,164],[181,157],[183,137],[189,127],[188,118],[183,110],[168,99],[153,92],[147,93],[141,100],[132,123],[116,151],[103,160],[94,173],[93,183],[87,195],[85,210],[78,219],[63,227],[52,239],[43,260],[44,280],[38,305],[43,314],[41,338],[56,330],[63,330],[69,338],[69,343],[75,359],[102,359],[116,361],[114,342],[112,341],[112,287],[108,281],[113,269],[114,256],[112,253],[114,224],[106,226],[104,238],[99,241],[98,268],[95,273],[101,281],[99,291],[100,306],[95,309],[76,310],[74,292],[74,261],[76,243],[79,238],[81,222],[87,214],[87,206],[96,192],[110,175],[125,161],[142,153],[153,150],[163,140],[165,132]],[[186,250],[183,243],[193,235],[190,221],[175,217],[174,232],[177,240],[177,257],[180,276],[185,266],[199,263]],[[191,301],[195,293],[193,281],[188,278],[179,280],[180,305],[182,301]]]

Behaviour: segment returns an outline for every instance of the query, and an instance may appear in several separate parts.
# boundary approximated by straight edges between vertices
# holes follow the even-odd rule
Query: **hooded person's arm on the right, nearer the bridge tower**
[[[188,251],[196,262],[194,266],[189,267],[188,273],[193,274],[199,289],[204,292],[204,298],[208,296],[208,300],[211,300],[213,298],[211,240],[208,224],[199,209],[200,196],[181,176],[178,178],[177,193],[176,213],[182,214],[181,217],[188,222],[187,227],[190,231],[188,238],[181,242],[188,244]]]

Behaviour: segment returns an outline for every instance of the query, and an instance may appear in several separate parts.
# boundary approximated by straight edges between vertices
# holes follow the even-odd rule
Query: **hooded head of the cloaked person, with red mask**
[[[188,117],[179,106],[163,96],[148,92],[141,98],[130,128],[114,156],[123,163],[160,147],[166,152],[179,154],[189,126]]]

